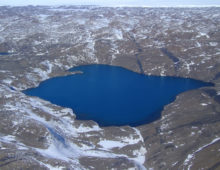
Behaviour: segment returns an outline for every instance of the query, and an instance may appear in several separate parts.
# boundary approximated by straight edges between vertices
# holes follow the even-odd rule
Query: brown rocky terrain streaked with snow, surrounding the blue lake
[[[140,127],[22,90],[82,64],[212,82]],[[219,169],[220,8],[0,7],[0,169]]]

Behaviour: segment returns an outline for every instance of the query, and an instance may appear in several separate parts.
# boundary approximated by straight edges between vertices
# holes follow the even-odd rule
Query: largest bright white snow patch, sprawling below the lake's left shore
[[[6,86],[3,86],[2,88],[4,92],[10,91],[10,89]],[[16,98],[18,96],[20,97],[19,100],[7,102],[3,109],[7,111],[13,110],[14,113],[16,113],[14,115],[15,123],[13,123],[15,127],[20,126],[23,122],[28,122],[31,120],[32,122],[34,121],[38,125],[47,128],[49,133],[46,142],[48,148],[40,149],[26,147],[24,144],[19,143],[15,136],[10,135],[4,137],[0,136],[0,141],[10,143],[16,141],[16,147],[18,149],[26,150],[31,148],[36,150],[39,154],[47,159],[57,159],[65,162],[71,162],[71,164],[75,165],[76,167],[80,167],[78,161],[80,157],[92,156],[98,158],[124,157],[130,161],[133,161],[137,167],[142,167],[142,169],[144,169],[142,164],[145,161],[146,149],[143,146],[143,138],[140,134],[140,131],[136,128],[132,128],[133,133],[127,137],[116,136],[116,140],[107,140],[103,138],[99,139],[97,144],[93,143],[92,141],[88,141],[88,143],[76,144],[72,139],[79,138],[81,134],[101,132],[104,135],[105,131],[95,124],[93,126],[81,124],[79,127],[75,127],[75,120],[72,120],[69,117],[73,114],[71,109],[60,108],[59,110],[56,110],[58,106],[54,106],[55,108],[49,107],[49,105],[51,105],[49,102],[36,97],[28,97],[19,91],[13,91],[13,97]],[[50,118],[46,119],[46,117],[39,115],[39,113],[36,111],[44,114],[47,113],[50,115]],[[22,121],[17,121],[16,115],[19,116],[18,120]],[[135,151],[133,151],[132,156],[123,154],[121,151],[116,154],[111,150],[115,147],[120,149],[128,145],[137,145],[139,149],[137,148]],[[46,167],[50,167],[51,169],[60,168],[52,168],[45,162],[42,162],[41,164]]]

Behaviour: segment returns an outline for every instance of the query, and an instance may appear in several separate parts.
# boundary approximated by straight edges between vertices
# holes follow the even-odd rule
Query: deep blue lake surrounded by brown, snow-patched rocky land
[[[79,66],[71,71],[83,74],[52,78],[24,93],[70,107],[79,120],[94,120],[100,126],[137,126],[158,119],[163,107],[179,93],[211,85],[107,65]]]

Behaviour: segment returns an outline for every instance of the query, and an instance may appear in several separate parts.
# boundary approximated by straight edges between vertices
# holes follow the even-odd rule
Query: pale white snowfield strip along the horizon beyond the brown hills
[[[219,0],[1,0],[0,6],[98,5],[110,7],[220,7]]]

